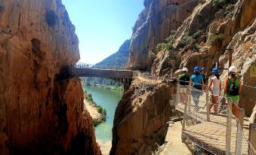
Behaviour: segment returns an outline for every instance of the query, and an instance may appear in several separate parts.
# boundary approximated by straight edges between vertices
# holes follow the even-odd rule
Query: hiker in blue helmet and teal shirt
[[[194,68],[194,74],[190,78],[190,85],[193,87],[191,90],[191,95],[193,97],[193,102],[196,105],[195,110],[199,111],[199,98],[202,95],[201,90],[204,90],[205,83],[203,81],[202,74],[200,74],[200,68],[198,66]]]

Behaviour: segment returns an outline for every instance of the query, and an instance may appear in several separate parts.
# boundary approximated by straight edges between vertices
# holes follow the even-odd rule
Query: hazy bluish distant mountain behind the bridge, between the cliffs
[[[93,68],[125,68],[128,62],[130,40],[126,40],[116,53],[103,59],[103,61],[97,63]]]

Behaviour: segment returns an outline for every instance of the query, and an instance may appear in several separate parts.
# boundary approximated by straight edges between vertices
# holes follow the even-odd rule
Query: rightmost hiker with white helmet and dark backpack
[[[224,94],[227,99],[231,99],[236,105],[239,103],[239,94],[242,91],[242,81],[237,76],[236,66],[229,68],[229,77],[224,81]]]

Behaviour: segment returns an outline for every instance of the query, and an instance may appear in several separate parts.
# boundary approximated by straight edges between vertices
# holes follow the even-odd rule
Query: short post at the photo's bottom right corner
[[[250,123],[249,126],[249,141],[251,144],[248,144],[248,154],[256,155],[256,123]]]

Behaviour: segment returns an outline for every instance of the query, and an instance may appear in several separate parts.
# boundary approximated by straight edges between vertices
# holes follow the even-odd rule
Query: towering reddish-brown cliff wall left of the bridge
[[[79,60],[60,0],[0,0],[1,154],[100,154],[78,79],[57,81]]]

